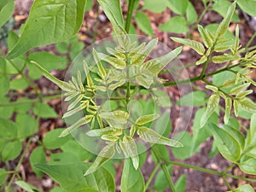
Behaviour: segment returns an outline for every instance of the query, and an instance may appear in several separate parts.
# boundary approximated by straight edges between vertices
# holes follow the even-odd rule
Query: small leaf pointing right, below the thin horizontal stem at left
[[[37,102],[33,112],[41,118],[57,118],[58,115],[53,108],[44,102]]]

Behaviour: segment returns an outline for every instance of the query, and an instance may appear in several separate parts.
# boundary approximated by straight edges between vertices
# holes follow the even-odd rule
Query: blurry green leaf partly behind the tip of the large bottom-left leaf
[[[43,147],[35,148],[29,157],[30,165],[32,170],[36,173],[37,177],[43,177],[43,172],[39,171],[34,165],[35,164],[45,164],[46,163],[46,154],[44,153]]]

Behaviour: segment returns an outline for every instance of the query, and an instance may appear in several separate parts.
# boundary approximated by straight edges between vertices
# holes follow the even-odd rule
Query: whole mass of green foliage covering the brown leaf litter
[[[37,177],[46,173],[60,184],[52,191],[115,191],[113,163],[123,166],[121,190],[124,192],[164,191],[168,187],[172,191],[185,191],[187,176],[182,175],[173,183],[172,165],[223,177],[230,191],[253,191],[249,184],[232,189],[227,177],[248,181],[247,177],[228,173],[234,166],[242,172],[256,175],[256,104],[250,96],[256,83],[249,76],[250,70],[256,68],[256,51],[249,47],[250,44],[241,47],[238,25],[235,35],[229,32],[230,23],[239,21],[237,7],[255,16],[255,1],[203,0],[204,11],[198,16],[189,0],[160,0],[159,3],[145,0],[143,5],[129,0],[125,21],[119,1],[97,2],[117,35],[113,38],[115,46],[90,49],[92,60],[84,59],[68,81],[55,78],[49,71],[65,69],[84,48],[75,35],[84,19],[84,12],[91,8],[93,1],[35,0],[26,23],[20,28],[20,36],[8,32],[9,52],[5,55],[1,50],[3,56],[0,57],[0,160],[3,165],[9,165],[11,160],[18,160],[18,164],[15,170],[10,170],[9,166],[0,169],[0,190],[14,190],[12,184],[18,177],[15,183],[21,189],[40,191],[20,180],[19,175],[26,152],[31,143],[37,142],[29,157],[30,164]],[[158,27],[163,32],[186,33],[188,38],[171,39],[199,55],[200,59],[194,65],[201,69],[197,77],[175,82],[162,79],[161,74],[166,72],[170,61],[177,58],[183,48],[177,47],[166,55],[150,59],[148,57],[157,47],[158,39],[152,38],[146,44],[129,35],[133,20],[142,32],[154,37],[148,11],[162,13],[166,9],[171,9],[175,16]],[[217,11],[224,19],[217,25],[198,25],[210,10]],[[14,1],[3,0],[0,3],[0,26],[9,20],[13,11]],[[200,41],[189,38],[196,28]],[[55,44],[58,55],[31,51],[46,44]],[[210,65],[220,68],[209,73]],[[36,137],[39,119],[57,118],[58,114],[48,101],[61,97],[58,90],[49,95],[38,88],[33,80],[40,79],[42,75],[63,90],[64,101],[68,104],[63,119],[68,127],[49,131],[40,140]],[[170,138],[172,122],[169,113],[162,111],[170,108],[172,103],[158,88],[195,81],[203,82],[205,88],[196,87],[195,91],[175,103],[198,107],[192,134],[180,131]],[[207,95],[209,92],[211,96]],[[147,101],[142,99],[143,96],[147,96]],[[152,102],[157,105],[152,105]],[[220,118],[222,114],[224,119]],[[250,119],[248,129],[241,129],[244,128],[240,122],[242,118]],[[102,148],[95,156],[72,137],[76,135],[96,138],[96,141],[101,141]],[[177,160],[188,159],[201,150],[201,143],[209,137],[213,138],[209,157],[219,153],[232,163],[224,172],[170,160],[170,151]],[[147,146],[152,147],[148,153],[152,154],[156,166],[145,183],[141,168],[148,155],[143,153]],[[117,156],[121,158],[113,160]],[[150,185],[155,175],[154,183]],[[253,179],[250,181],[255,182]]]

